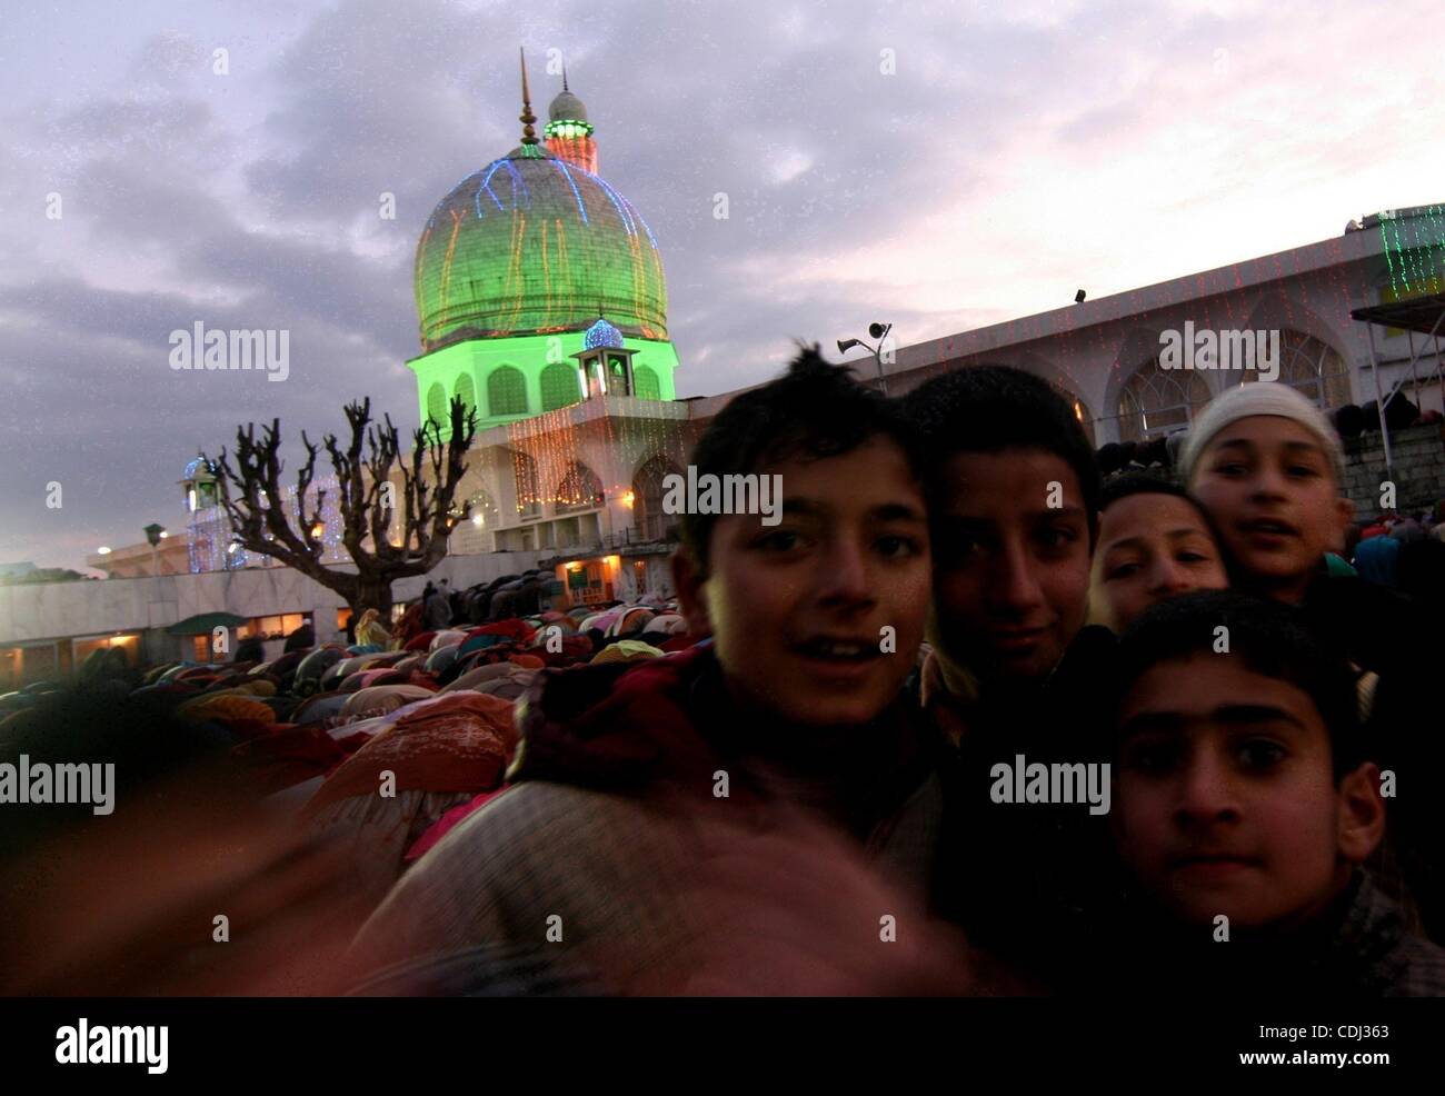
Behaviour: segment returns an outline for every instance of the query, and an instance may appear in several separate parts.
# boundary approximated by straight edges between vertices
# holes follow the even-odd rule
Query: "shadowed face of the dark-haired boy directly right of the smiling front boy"
[[[1078,476],[1036,448],[958,453],[945,473],[933,545],[939,641],[984,682],[1039,681],[1088,607],[1090,518]]]

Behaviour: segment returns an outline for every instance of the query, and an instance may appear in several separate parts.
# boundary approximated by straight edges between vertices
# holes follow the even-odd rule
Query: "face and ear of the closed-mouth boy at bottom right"
[[[1377,769],[1337,787],[1309,695],[1238,656],[1202,652],[1144,672],[1120,710],[1120,853],[1189,924],[1303,921],[1380,839]]]

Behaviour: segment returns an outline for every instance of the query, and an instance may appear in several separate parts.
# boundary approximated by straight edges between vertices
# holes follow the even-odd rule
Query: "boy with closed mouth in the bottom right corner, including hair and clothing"
[[[1384,833],[1341,655],[1274,601],[1198,593],[1120,645],[1114,826],[1130,992],[1439,996],[1445,950],[1361,869]]]

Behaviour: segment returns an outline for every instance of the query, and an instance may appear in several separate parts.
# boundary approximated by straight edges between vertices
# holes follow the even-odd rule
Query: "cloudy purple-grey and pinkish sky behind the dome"
[[[565,58],[657,237],[679,395],[1445,197],[1438,0],[4,7],[0,562],[184,528],[182,467],[241,421],[413,425],[416,240],[516,146],[519,45],[543,117]],[[289,379],[171,370],[195,320],[289,330]]]

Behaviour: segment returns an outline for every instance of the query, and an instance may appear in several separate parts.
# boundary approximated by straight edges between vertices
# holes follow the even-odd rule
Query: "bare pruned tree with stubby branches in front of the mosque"
[[[249,552],[279,560],[335,590],[353,613],[377,609],[386,619],[392,612],[392,583],[426,574],[447,558],[451,528],[471,509],[468,503],[458,510],[452,500],[467,471],[477,412],[455,396],[449,412],[451,431],[445,444],[435,419],[412,431],[410,467],[402,458],[392,416],[386,415],[380,424],[371,421],[370,399],[347,405],[351,438],[345,448],[335,434],[322,438],[335,473],[341,542],[355,571],[321,561],[325,542],[319,531],[327,492],[312,486],[321,445],[302,431],[306,460],[296,473],[293,525],[280,484],[285,470],[279,455],[280,419],[272,419],[260,438],[254,422],[237,427],[234,468],[225,450],[214,461],[233,539]],[[393,466],[402,474],[400,490],[392,484]],[[393,505],[400,515],[399,544],[389,535]]]

